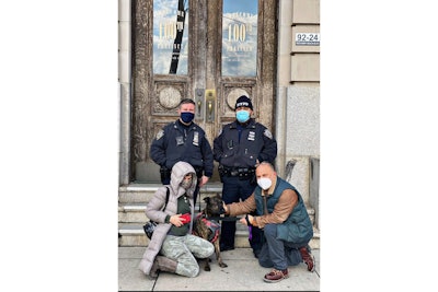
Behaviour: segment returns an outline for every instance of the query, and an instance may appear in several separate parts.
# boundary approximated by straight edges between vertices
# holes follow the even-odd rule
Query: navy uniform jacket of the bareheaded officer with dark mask
[[[172,170],[178,161],[204,167],[204,175],[211,177],[214,159],[205,131],[195,122],[187,130],[178,120],[164,126],[152,141],[150,155],[160,166]]]

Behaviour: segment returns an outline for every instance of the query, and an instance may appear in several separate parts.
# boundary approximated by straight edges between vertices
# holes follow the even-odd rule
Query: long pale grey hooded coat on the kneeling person
[[[169,230],[171,229],[171,223],[164,223],[165,217],[176,214],[177,209],[177,199],[186,194],[186,190],[180,186],[181,182],[183,182],[184,176],[188,173],[193,173],[193,184],[187,189],[187,197],[191,202],[191,226],[189,233],[193,230],[193,218],[194,218],[194,205],[193,205],[193,192],[196,187],[196,175],[193,166],[186,162],[177,162],[173,168],[171,174],[171,184],[169,186],[160,187],[153,197],[149,200],[146,208],[146,215],[160,224],[155,227],[152,238],[149,242],[148,247],[142,256],[142,259],[139,265],[139,269],[149,275],[153,260],[155,256],[159,254],[161,246],[164,242],[165,236],[168,235]],[[161,210],[165,202],[166,188],[169,187],[169,202],[165,210]]]

